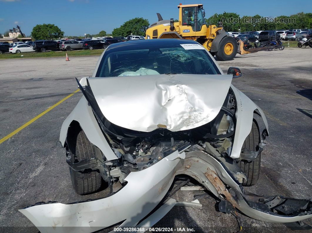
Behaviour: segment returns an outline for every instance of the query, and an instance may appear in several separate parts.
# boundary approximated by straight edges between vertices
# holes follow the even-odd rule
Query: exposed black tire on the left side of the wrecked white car
[[[76,141],[76,154],[71,153],[71,162],[79,162],[83,159],[95,158],[95,147],[81,130]],[[102,177],[97,170],[75,171],[69,167],[71,182],[76,193],[80,195],[98,191],[102,184]]]

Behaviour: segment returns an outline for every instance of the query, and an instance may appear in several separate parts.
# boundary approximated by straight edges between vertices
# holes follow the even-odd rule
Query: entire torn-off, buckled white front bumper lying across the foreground
[[[174,151],[151,167],[131,172],[125,178],[127,184],[109,197],[72,204],[38,203],[19,211],[42,233],[93,232],[112,226],[150,227],[177,205],[169,199],[159,207],[174,177],[182,174],[196,179],[226,202],[228,210],[236,208],[257,220],[288,223],[312,217],[311,199],[262,197],[244,192],[224,162],[196,148]]]

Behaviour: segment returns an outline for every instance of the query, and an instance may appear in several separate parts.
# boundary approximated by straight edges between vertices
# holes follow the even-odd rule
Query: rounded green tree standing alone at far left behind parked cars
[[[37,24],[32,29],[32,37],[36,40],[51,40],[62,37],[64,32],[54,24]]]

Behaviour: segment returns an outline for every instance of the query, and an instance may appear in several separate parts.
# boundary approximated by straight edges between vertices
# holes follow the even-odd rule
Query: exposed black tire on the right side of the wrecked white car
[[[248,148],[251,151],[259,149],[260,133],[255,121],[252,122],[252,127],[249,135],[246,137],[242,148]],[[246,174],[247,180],[243,179],[243,186],[253,186],[257,183],[260,175],[261,153],[252,161],[241,160],[238,165]]]

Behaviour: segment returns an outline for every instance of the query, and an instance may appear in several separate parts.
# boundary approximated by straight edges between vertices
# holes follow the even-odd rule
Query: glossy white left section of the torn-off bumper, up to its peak
[[[128,183],[109,197],[72,204],[35,204],[19,211],[41,233],[94,232],[116,223],[134,227],[168,192],[180,156],[185,157],[185,153],[175,151],[145,170],[131,172],[125,178]]]

